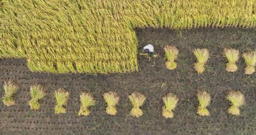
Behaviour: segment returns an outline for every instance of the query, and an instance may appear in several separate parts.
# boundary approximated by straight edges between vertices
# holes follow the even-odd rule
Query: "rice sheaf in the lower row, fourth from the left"
[[[81,107],[78,115],[88,116],[90,114],[90,110],[88,109],[88,107],[96,104],[96,101],[93,99],[92,94],[83,92],[80,95],[80,102]]]

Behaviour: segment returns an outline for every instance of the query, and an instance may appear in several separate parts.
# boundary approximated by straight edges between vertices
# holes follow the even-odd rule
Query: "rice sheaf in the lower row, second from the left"
[[[44,98],[46,95],[41,85],[34,85],[30,87],[31,100],[28,102],[31,110],[37,110],[40,108],[38,100]]]

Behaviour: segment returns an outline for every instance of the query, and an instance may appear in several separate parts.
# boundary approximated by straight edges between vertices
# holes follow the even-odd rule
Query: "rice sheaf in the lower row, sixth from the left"
[[[136,118],[143,115],[143,112],[140,109],[140,107],[144,104],[146,97],[144,95],[140,94],[139,92],[133,92],[131,95],[129,95],[129,99],[133,106],[130,114],[132,116],[135,116]]]

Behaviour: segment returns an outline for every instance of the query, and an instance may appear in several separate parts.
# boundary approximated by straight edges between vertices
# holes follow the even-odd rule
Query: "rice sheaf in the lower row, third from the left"
[[[63,89],[59,88],[55,91],[55,98],[56,98],[56,106],[54,107],[56,114],[66,113],[66,106],[68,104],[68,96],[69,92],[64,91]]]

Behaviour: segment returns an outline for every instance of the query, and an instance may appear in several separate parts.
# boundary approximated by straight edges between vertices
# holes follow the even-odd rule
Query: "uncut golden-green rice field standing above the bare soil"
[[[32,71],[137,71],[134,28],[256,27],[256,0],[1,0],[0,5],[0,58],[27,59]]]

